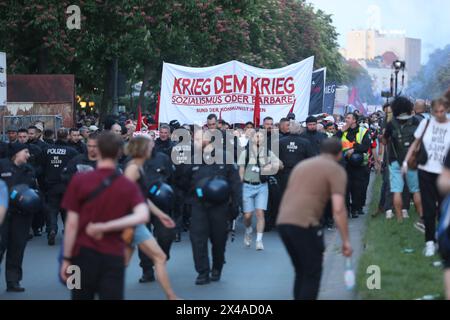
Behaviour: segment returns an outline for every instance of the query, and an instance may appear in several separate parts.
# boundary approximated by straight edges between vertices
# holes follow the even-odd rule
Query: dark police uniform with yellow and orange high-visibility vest
[[[350,128],[345,132],[339,132],[338,137],[342,140],[342,152],[344,155],[344,165],[348,177],[347,190],[347,207],[350,209],[353,218],[362,214],[364,206],[363,192],[364,179],[367,174],[367,165],[369,160],[370,137],[368,130],[363,127]],[[364,161],[359,166],[352,165],[347,157],[346,152],[350,149],[354,150],[355,154],[361,154]],[[351,203],[351,204],[350,204]]]

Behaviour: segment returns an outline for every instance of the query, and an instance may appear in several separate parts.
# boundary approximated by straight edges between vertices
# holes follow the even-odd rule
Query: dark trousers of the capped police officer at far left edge
[[[0,264],[6,252],[5,277],[7,283],[22,280],[23,256],[32,220],[32,214],[10,210],[1,226]]]

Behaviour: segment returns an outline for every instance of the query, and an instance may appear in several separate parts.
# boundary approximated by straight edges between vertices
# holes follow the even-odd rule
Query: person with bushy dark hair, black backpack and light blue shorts
[[[405,97],[396,98],[391,105],[393,119],[386,125],[383,142],[388,147],[389,182],[391,192],[394,194],[393,203],[397,221],[409,218],[407,212],[402,212],[404,178],[401,164],[411,144],[414,142],[414,133],[419,126],[419,120],[413,116],[413,103]],[[422,218],[422,201],[420,198],[419,178],[417,170],[409,169],[405,175],[409,192],[413,194],[417,213]]]

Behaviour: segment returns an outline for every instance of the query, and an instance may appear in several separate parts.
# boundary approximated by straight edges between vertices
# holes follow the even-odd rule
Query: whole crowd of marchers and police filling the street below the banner
[[[398,97],[368,117],[353,112],[345,117],[309,116],[298,122],[294,114],[288,114],[277,123],[266,117],[261,126],[229,124],[211,114],[204,126],[173,120],[151,131],[150,116],[138,124],[133,116],[121,113],[100,124],[96,115],[81,113],[77,127],[57,132],[42,122],[8,128],[8,141],[0,144],[1,179],[10,191],[18,184],[38,190],[43,205],[32,213],[17,212],[24,210],[8,207],[0,199],[0,220],[5,216],[0,259],[6,252],[7,290],[25,290],[20,281],[26,240],[45,232],[48,245],[54,246],[63,222],[61,278],[67,278],[71,263],[89,270],[84,289],[73,293],[74,299],[91,299],[96,294],[123,298],[123,230],[130,228],[133,240],[127,250],[130,254],[132,248],[139,248],[143,272],[139,281],[155,281],[156,273],[167,297],[177,299],[165,269],[172,243],[181,241],[182,232],[189,230],[198,272],[195,283],[219,281],[227,233],[242,214],[248,248],[253,242],[253,215],[258,251],[264,250],[264,232],[278,225],[296,268],[294,296],[315,299],[323,238],[313,233],[333,228],[334,217],[344,240],[343,253],[350,256],[347,220],[342,216],[356,219],[367,213],[377,173],[383,174],[379,210],[386,219],[395,214],[401,222],[409,218],[412,199],[419,216],[415,226],[425,233],[424,254],[432,256],[443,200],[437,182],[439,175],[448,174],[449,100],[447,94],[428,110],[423,101],[414,104]],[[143,129],[136,132],[137,127]],[[419,146],[424,147],[422,154],[415,151]],[[203,154],[200,161],[195,151]],[[314,157],[319,158],[307,162]],[[418,167],[411,161],[416,157],[421,158]],[[319,179],[316,171],[323,177]],[[309,175],[308,191],[304,184]],[[439,181],[448,194],[448,181]],[[313,187],[317,199],[311,201],[305,197]],[[152,198],[149,190],[153,189],[158,194],[167,192],[170,201],[158,200],[155,193]],[[303,189],[305,194],[296,198]],[[309,209],[296,207],[302,199],[307,203],[302,208]],[[297,216],[302,210],[306,213]],[[158,219],[150,220],[149,212]],[[317,245],[314,252],[295,245],[296,240],[308,239]],[[299,256],[312,257],[314,263],[304,266]],[[446,267],[450,267],[448,261]],[[318,272],[312,282],[302,280],[307,271]]]

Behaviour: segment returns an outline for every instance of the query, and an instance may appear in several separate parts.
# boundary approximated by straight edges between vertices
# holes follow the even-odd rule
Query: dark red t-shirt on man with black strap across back
[[[95,240],[89,237],[85,230],[90,222],[107,222],[121,218],[131,213],[136,205],[143,203],[145,200],[138,185],[124,176],[119,176],[111,186],[81,207],[81,202],[113,173],[112,169],[78,173],[72,178],[64,194],[61,207],[79,215],[73,256],[78,254],[80,247],[88,247],[103,254],[124,255],[125,244],[121,231],[109,232],[104,234],[101,240]]]

